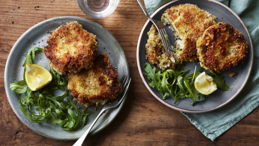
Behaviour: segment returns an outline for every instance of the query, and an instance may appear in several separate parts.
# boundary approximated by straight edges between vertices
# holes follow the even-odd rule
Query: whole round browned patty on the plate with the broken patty
[[[247,54],[244,35],[232,25],[218,22],[197,40],[200,66],[210,71],[225,71],[243,62]]]

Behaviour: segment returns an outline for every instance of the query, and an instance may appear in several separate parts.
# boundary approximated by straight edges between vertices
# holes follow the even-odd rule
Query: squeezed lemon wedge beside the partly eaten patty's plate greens
[[[210,75],[202,72],[194,81],[195,89],[204,95],[209,95],[217,90],[217,85]]]

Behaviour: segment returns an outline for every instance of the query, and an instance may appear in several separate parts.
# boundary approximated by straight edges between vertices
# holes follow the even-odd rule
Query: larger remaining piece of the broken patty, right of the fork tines
[[[175,36],[175,52],[182,61],[194,61],[196,41],[204,30],[215,24],[216,17],[193,4],[172,6],[162,15],[161,21],[170,24]]]

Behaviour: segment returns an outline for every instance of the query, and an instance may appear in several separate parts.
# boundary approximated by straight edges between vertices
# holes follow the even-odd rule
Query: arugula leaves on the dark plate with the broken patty
[[[213,96],[203,95],[195,89],[194,81],[203,71],[203,69],[196,71],[196,67],[194,73],[186,75],[190,70],[183,70],[181,66],[175,70],[161,70],[150,63],[145,63],[144,70],[146,72],[143,72],[143,74],[150,81],[149,86],[157,89],[164,100],[171,95],[175,99],[174,104],[176,104],[180,99],[191,98],[191,105],[195,105],[206,96]],[[213,78],[218,88],[225,91],[230,90],[228,85],[224,83],[223,75],[217,75],[216,73],[209,73],[208,75]]]

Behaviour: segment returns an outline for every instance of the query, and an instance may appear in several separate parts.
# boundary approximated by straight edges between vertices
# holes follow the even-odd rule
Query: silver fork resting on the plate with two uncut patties
[[[85,138],[87,137],[87,135],[89,134],[89,132],[91,131],[91,129],[93,128],[94,124],[97,122],[97,120],[100,118],[101,114],[103,114],[105,112],[105,110],[107,109],[112,109],[115,108],[116,106],[120,105],[121,101],[124,99],[128,89],[129,89],[129,85],[130,85],[130,81],[131,78],[128,75],[123,75],[122,77],[122,81],[121,81],[121,85],[122,85],[122,93],[120,94],[120,96],[118,98],[116,98],[115,100],[111,101],[110,104],[106,104],[103,109],[100,111],[100,113],[97,115],[97,117],[94,119],[94,121],[92,122],[92,124],[88,127],[88,129],[81,135],[81,137],[76,141],[75,144],[73,144],[73,146],[81,146],[85,140]]]

